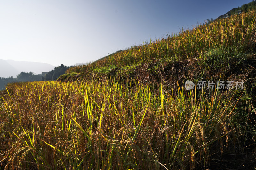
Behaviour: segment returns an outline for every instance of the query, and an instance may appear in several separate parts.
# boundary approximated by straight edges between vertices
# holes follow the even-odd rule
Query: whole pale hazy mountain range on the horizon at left
[[[49,72],[55,66],[47,63],[29,62],[29,61],[14,61],[14,60],[0,60],[0,77],[16,77],[21,72],[32,72],[41,74],[42,72]],[[2,67],[2,65],[6,67]]]

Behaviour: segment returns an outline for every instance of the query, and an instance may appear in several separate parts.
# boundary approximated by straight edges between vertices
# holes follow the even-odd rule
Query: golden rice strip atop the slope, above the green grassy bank
[[[255,11],[216,20],[207,25],[198,25],[167,38],[133,46],[88,65],[70,68],[67,73],[85,72],[95,68],[124,67],[141,64],[155,59],[184,61],[205,59],[205,52],[212,49],[245,53],[252,50],[252,36],[255,32]],[[226,56],[225,56],[226,57]]]

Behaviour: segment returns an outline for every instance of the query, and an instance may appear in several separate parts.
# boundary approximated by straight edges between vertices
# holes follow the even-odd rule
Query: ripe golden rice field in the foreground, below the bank
[[[245,148],[232,119],[236,103],[218,91],[168,92],[131,81],[8,89],[0,106],[5,169],[204,169]]]

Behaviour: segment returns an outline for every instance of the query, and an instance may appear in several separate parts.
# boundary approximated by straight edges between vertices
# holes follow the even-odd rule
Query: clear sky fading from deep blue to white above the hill
[[[249,0],[1,0],[0,59],[95,61],[217,18]]]

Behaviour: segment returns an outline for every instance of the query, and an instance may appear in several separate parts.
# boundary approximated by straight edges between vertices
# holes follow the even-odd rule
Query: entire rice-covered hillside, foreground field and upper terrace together
[[[59,82],[10,84],[0,94],[1,169],[255,167],[255,16],[134,46]],[[185,79],[247,87],[183,91]]]

